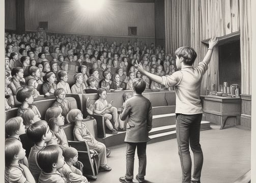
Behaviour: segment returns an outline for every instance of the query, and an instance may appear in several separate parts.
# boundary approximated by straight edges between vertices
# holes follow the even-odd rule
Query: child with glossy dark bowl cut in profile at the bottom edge
[[[65,183],[59,172],[64,165],[62,154],[62,149],[57,145],[49,145],[39,151],[37,162],[42,171],[38,183]]]

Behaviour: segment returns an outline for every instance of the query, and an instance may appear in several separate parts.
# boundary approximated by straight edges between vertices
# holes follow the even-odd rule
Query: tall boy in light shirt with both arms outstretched
[[[183,183],[200,183],[203,166],[203,152],[200,145],[200,125],[202,119],[202,103],[200,87],[204,73],[208,69],[214,46],[218,40],[209,40],[209,48],[202,62],[193,67],[196,52],[193,48],[183,46],[175,51],[176,65],[179,71],[169,76],[157,76],[146,72],[142,65],[136,63],[141,74],[166,87],[174,86],[176,92],[176,133],[179,156],[182,166]],[[191,177],[191,157],[189,143],[194,155],[194,172]]]

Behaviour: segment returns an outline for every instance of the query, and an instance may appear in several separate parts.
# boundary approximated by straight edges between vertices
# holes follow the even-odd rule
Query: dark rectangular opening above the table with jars
[[[240,40],[219,46],[219,83],[241,87]]]

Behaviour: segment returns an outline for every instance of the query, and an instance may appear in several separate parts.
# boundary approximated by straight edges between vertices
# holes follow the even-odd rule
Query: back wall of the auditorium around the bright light
[[[155,36],[154,3],[117,1],[97,14],[80,8],[77,1],[26,0],[26,31],[36,31],[39,21],[48,21],[48,31],[54,33],[128,36],[128,26],[137,26],[137,36]]]

